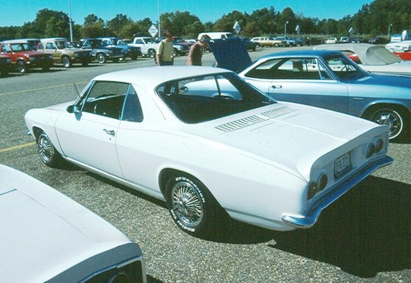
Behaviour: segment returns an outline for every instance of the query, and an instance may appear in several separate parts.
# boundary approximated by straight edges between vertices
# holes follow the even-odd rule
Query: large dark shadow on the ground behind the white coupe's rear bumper
[[[274,205],[274,203],[273,203]],[[211,241],[262,243],[370,278],[411,268],[411,185],[371,176],[323,211],[310,229],[275,232],[237,221]]]

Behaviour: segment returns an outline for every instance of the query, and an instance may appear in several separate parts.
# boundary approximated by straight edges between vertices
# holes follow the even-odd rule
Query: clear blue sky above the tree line
[[[371,3],[366,0],[15,0],[3,1],[0,9],[0,27],[10,25],[21,26],[32,22],[36,12],[42,9],[62,11],[69,14],[71,3],[71,18],[77,24],[83,24],[88,14],[95,14],[104,21],[111,20],[116,14],[125,14],[133,21],[151,18],[158,19],[158,3],[160,12],[188,11],[198,16],[202,23],[216,21],[224,14],[234,10],[251,14],[253,10],[270,8],[281,12],[290,7],[295,14],[313,18],[334,18],[353,15],[363,4]],[[332,4],[334,2],[334,4]]]

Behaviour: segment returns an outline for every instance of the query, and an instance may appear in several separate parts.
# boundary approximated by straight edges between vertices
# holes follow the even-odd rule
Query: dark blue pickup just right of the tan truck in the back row
[[[123,57],[123,49],[106,46],[99,38],[83,38],[80,40],[79,46],[82,49],[91,50],[91,54],[100,64],[107,60],[116,63]]]

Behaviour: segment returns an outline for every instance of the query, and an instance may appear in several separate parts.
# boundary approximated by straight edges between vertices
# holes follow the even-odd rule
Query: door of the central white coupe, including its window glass
[[[58,118],[55,129],[67,157],[123,178],[116,138],[128,88],[113,81],[92,83],[77,103],[81,111]]]

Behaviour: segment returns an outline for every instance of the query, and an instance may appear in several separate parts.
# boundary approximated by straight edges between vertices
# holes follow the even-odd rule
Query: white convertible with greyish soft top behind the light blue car
[[[369,72],[390,75],[411,75],[411,62],[401,61],[384,46],[367,43],[358,44],[321,44],[314,50],[327,49],[342,51],[353,59],[361,68]]]

